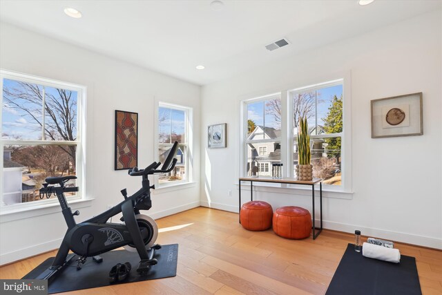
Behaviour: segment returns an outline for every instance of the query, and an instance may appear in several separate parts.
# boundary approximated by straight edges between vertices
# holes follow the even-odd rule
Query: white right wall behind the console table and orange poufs
[[[202,137],[202,204],[238,211],[241,99],[351,73],[352,95],[346,99],[352,104],[354,193],[325,198],[325,228],[361,229],[367,236],[442,249],[441,53],[437,11],[204,86],[202,134],[209,124],[227,122],[228,146],[206,149]],[[424,135],[372,139],[370,100],[416,92],[423,92]],[[307,196],[268,191],[256,197],[273,209],[311,209]]]

